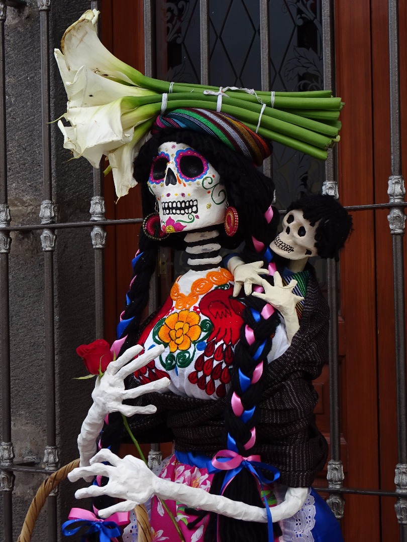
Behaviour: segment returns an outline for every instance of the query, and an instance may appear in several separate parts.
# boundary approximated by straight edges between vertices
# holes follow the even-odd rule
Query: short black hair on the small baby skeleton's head
[[[315,231],[315,248],[321,258],[339,261],[339,251],[352,231],[352,216],[332,196],[305,194],[292,202],[287,212],[301,209],[311,225],[319,222]]]

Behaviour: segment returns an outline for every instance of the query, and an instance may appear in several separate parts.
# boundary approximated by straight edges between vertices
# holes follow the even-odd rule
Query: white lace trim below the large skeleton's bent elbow
[[[274,485],[274,492],[278,502],[284,499],[285,489],[287,487],[280,486],[278,491],[277,484]],[[277,490],[277,491],[276,491]],[[278,542],[314,542],[314,537],[311,531],[315,526],[315,499],[310,494],[311,488],[308,489],[308,496],[301,508],[291,518],[279,521],[279,526],[283,534],[278,538]]]

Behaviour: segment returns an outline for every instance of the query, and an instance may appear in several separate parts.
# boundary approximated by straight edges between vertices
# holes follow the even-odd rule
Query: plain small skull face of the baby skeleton
[[[302,215],[301,209],[294,209],[283,218],[283,231],[270,244],[279,256],[288,260],[302,260],[316,256],[315,231],[318,223],[312,224]]]

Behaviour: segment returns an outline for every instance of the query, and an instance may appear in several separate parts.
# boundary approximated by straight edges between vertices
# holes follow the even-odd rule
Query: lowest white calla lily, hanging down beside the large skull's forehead
[[[125,196],[130,188],[137,184],[133,177],[133,162],[138,156],[141,146],[145,143],[151,124],[152,120],[137,126],[130,143],[126,143],[108,154],[118,198]]]

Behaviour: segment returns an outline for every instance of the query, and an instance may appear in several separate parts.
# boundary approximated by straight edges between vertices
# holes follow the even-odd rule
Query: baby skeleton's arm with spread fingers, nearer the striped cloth
[[[281,275],[276,271],[274,274],[274,286],[271,286],[267,281],[262,280],[264,294],[259,292],[252,293],[255,297],[264,299],[270,303],[270,305],[275,307],[277,311],[281,312],[285,321],[287,338],[290,343],[292,337],[294,337],[296,332],[300,329],[295,306],[298,301],[304,299],[301,295],[292,293],[292,290],[296,285],[297,281],[292,279],[287,286],[283,286]]]

